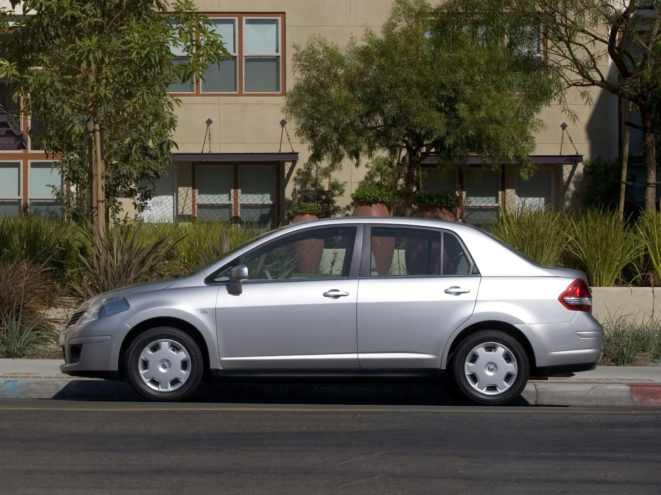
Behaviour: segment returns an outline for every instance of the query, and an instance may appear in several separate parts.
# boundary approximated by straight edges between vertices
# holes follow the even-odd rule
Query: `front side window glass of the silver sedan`
[[[254,281],[348,277],[356,227],[307,230],[245,257]]]

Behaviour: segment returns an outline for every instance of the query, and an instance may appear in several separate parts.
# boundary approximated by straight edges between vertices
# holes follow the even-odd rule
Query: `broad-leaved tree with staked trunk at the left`
[[[19,2],[12,0],[12,5]],[[103,232],[119,195],[143,207],[170,164],[178,100],[168,85],[229,56],[190,0],[26,0],[0,13],[3,75],[42,125],[42,149]],[[173,51],[190,53],[173,61]],[[87,194],[85,195],[85,191]],[[98,207],[98,208],[97,208]]]

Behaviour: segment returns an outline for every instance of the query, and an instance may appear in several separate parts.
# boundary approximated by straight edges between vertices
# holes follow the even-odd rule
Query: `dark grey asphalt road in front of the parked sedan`
[[[661,411],[0,399],[1,494],[661,492]]]

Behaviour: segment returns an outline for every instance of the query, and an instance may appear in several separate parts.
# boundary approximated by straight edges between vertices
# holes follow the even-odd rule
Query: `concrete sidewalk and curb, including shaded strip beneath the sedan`
[[[73,400],[136,400],[128,383],[80,379],[59,373],[61,360],[0,359],[0,398],[73,399]],[[206,385],[193,399],[210,402],[278,403],[386,403],[442,405],[452,403],[438,386],[407,387],[391,384],[364,383],[356,387],[355,397],[346,397],[342,383],[309,383],[299,386],[292,380],[280,384],[253,381],[245,385],[223,383]],[[389,396],[400,397],[390,399]],[[379,399],[382,397],[382,399]],[[404,399],[406,397],[406,399]],[[348,400],[348,402],[347,402]],[[449,401],[449,402],[448,402]],[[569,377],[530,380],[522,402],[531,405],[569,406],[656,406],[661,407],[661,367],[598,366],[596,370]]]

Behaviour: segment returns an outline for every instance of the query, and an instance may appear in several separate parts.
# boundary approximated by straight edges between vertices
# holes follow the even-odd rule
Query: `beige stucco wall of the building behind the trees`
[[[391,0],[197,0],[200,11],[210,16],[231,13],[283,13],[284,14],[284,68],[285,88],[294,82],[292,53],[294,44],[304,45],[313,34],[321,34],[338,44],[346,44],[350,36],[360,39],[366,27],[379,30],[391,7]],[[607,67],[606,67],[607,70]],[[182,104],[176,110],[178,128],[175,141],[181,152],[200,152],[206,131],[206,119],[214,123],[210,131],[210,143],[204,150],[212,152],[272,152],[280,149],[282,96],[182,96]],[[567,96],[576,121],[564,115],[558,105],[545,108],[541,118],[545,129],[537,134],[535,154],[572,154],[574,148],[564,135],[561,123],[568,123],[568,135],[579,154],[586,159],[602,155],[617,156],[617,100],[602,90],[594,90],[594,105],[584,104],[578,92]],[[615,118],[613,118],[613,116]],[[305,143],[295,137],[295,125],[288,125],[293,149],[300,153],[297,166],[302,166],[309,152]],[[561,141],[562,150],[561,150]],[[283,150],[289,150],[284,139]],[[576,191],[583,181],[583,166],[558,165],[559,187],[557,205],[562,208],[578,206]],[[363,178],[364,168],[346,163],[336,176],[346,182],[343,203],[350,202],[350,193]],[[183,177],[183,176],[180,176]],[[181,179],[182,180],[182,179]],[[507,187],[516,184],[516,168],[506,170]],[[179,192],[188,194],[180,183]],[[183,188],[183,189],[182,189]],[[292,191],[292,183],[286,185],[286,196]],[[184,213],[183,211],[180,213]]]

